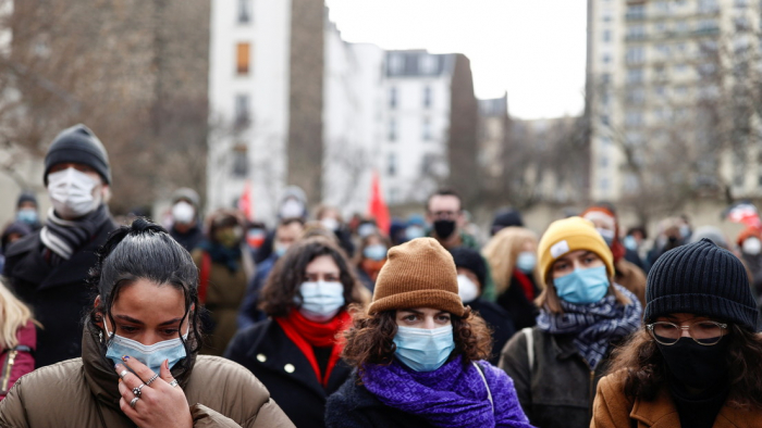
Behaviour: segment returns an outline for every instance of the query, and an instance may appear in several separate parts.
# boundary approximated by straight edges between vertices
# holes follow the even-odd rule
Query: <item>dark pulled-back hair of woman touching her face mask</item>
[[[188,354],[196,353],[201,345],[198,269],[190,254],[167,230],[145,218],[137,218],[131,226],[122,226],[111,232],[108,241],[98,250],[98,262],[90,269],[89,282],[95,287],[100,303],[94,307],[88,322],[90,328],[105,323],[107,314],[113,325],[111,315],[119,293],[139,279],[147,279],[159,286],[170,286],[183,292],[185,314],[181,325],[188,318],[190,333],[188,341],[182,338]],[[192,307],[195,311],[190,311]],[[105,345],[113,339],[114,331]]]

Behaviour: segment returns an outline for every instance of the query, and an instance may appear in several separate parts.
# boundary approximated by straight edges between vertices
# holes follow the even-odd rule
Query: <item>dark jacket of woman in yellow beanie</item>
[[[595,386],[609,367],[609,358],[601,361],[594,372],[590,370],[573,342],[574,336],[551,335],[538,327],[531,331],[534,343],[531,369],[523,331],[505,345],[497,365],[514,380],[521,408],[538,427],[587,428]]]

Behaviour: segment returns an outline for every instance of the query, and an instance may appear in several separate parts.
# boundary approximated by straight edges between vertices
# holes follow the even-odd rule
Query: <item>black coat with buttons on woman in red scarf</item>
[[[299,428],[325,426],[325,401],[352,374],[340,360],[323,388],[309,360],[272,319],[238,331],[224,356],[251,370]]]

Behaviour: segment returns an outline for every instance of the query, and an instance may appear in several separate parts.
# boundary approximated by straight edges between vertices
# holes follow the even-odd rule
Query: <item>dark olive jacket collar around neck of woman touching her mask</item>
[[[172,376],[181,388],[185,388],[193,370],[196,355],[190,354],[172,367]],[[119,410],[119,375],[113,362],[106,357],[106,345],[101,342],[98,328],[90,329],[90,322],[85,322],[82,335],[82,363],[85,367],[85,380],[98,400],[111,408]],[[187,367],[187,368],[186,368]]]

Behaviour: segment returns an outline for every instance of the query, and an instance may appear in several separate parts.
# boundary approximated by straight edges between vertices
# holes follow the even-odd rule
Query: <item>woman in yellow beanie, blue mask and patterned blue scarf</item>
[[[554,222],[540,240],[545,289],[537,300],[537,326],[516,333],[499,363],[537,426],[588,427],[614,344],[640,326],[640,302],[613,281],[613,259],[585,218]]]

